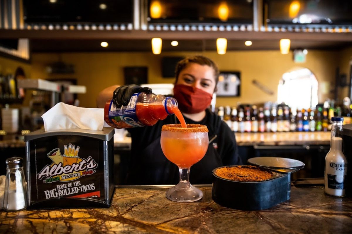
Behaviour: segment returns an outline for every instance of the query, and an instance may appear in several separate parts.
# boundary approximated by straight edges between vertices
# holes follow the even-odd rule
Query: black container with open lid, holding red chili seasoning
[[[275,161],[274,166],[270,169],[265,168],[266,161],[272,165],[272,160]],[[290,199],[291,192],[291,176],[290,173],[298,171],[304,167],[304,163],[298,160],[274,158],[274,157],[260,157],[249,159],[248,162],[252,165],[263,164],[266,166],[258,166],[263,171],[271,171],[272,178],[263,181],[234,181],[219,177],[215,174],[216,169],[213,170],[212,183],[212,198],[221,206],[240,210],[262,210],[268,209],[283,201]],[[281,163],[280,163],[281,161]],[[270,164],[271,162],[271,164]],[[279,163],[277,163],[279,162]],[[292,163],[294,162],[294,166]],[[282,165],[282,166],[280,166]],[[238,167],[238,166],[225,166]],[[249,166],[242,166],[249,167]],[[274,169],[276,168],[276,169]],[[278,172],[278,171],[280,172]]]

